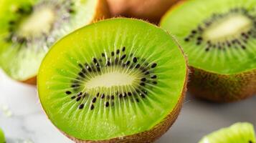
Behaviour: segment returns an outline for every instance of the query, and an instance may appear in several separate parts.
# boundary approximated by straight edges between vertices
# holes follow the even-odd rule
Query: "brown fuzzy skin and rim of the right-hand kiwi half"
[[[186,2],[188,1],[177,2],[164,14],[160,22],[162,28],[162,24],[168,19],[168,16]],[[188,90],[199,99],[217,103],[238,102],[252,97],[256,93],[256,69],[232,74],[219,74],[190,64],[189,69],[191,73],[189,74]]]

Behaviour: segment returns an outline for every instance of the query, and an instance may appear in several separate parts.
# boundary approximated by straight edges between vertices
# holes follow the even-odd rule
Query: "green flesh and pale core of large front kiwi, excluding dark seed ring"
[[[123,46],[125,51],[122,51]],[[105,107],[108,99],[98,97],[91,110],[91,99],[99,91],[107,95],[140,87],[141,71],[134,67],[110,66],[102,68],[102,77],[86,74],[92,76],[92,80],[84,81],[76,91],[70,88],[71,81],[81,70],[78,64],[101,57],[103,52],[112,60],[114,57],[110,53],[117,49],[120,49],[119,59],[123,53],[133,53],[139,57],[137,63],[143,63],[143,58],[149,65],[156,62],[157,66],[150,72],[158,78],[147,80],[156,80],[158,84],[141,87],[148,91],[144,99],[115,95],[114,105],[110,107]],[[123,61],[127,59],[131,57],[126,56]],[[85,26],[57,42],[42,62],[37,84],[42,107],[57,128],[78,139],[104,140],[152,129],[173,111],[185,82],[186,61],[169,34],[136,19],[110,19]],[[72,94],[65,94],[67,90]],[[87,95],[89,99],[83,109],[78,109],[82,99],[76,102],[70,97],[85,91],[90,94]],[[136,98],[140,102],[136,102]]]

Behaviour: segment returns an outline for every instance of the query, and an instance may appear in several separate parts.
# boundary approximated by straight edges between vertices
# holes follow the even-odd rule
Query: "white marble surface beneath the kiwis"
[[[157,143],[196,143],[234,122],[256,125],[256,97],[233,104],[212,104],[187,96],[179,119]],[[45,116],[36,87],[20,84],[0,71],[0,127],[7,143],[70,143]]]

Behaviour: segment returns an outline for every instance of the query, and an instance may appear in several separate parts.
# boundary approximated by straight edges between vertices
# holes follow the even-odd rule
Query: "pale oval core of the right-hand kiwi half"
[[[203,37],[210,41],[225,41],[236,38],[237,35],[250,30],[251,27],[252,20],[246,16],[229,16],[209,26],[207,31],[204,31]]]

